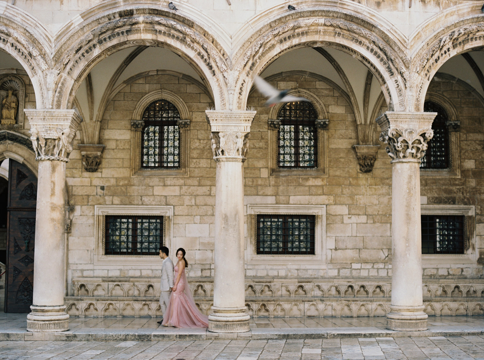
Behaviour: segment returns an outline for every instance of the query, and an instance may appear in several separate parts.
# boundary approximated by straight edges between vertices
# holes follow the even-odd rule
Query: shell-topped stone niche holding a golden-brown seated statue
[[[0,124],[24,127],[25,85],[15,75],[0,76]],[[17,127],[17,126],[15,126]]]

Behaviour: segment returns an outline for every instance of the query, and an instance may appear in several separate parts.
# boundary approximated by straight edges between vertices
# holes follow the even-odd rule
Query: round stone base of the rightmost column
[[[427,330],[428,315],[423,306],[390,306],[387,314],[387,329],[397,331]]]

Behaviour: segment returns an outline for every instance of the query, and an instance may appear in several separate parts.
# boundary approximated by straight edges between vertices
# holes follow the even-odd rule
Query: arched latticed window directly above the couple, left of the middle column
[[[166,100],[153,101],[143,113],[141,167],[180,167],[180,114]]]

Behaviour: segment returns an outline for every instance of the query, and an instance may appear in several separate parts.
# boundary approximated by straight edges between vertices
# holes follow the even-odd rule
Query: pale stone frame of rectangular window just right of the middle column
[[[276,204],[248,204],[247,205],[247,265],[310,265],[315,269],[326,267],[326,205],[276,205]],[[314,215],[314,255],[292,254],[257,254],[257,215]]]

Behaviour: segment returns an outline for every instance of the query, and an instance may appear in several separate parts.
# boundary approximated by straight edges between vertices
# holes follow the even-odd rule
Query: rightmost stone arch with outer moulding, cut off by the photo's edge
[[[412,44],[423,45],[411,60],[412,73],[415,74],[411,88],[414,90],[415,98],[408,104],[409,110],[423,111],[425,94],[430,81],[445,61],[484,46],[484,15],[476,3],[446,9],[443,13],[428,19],[415,31],[425,33],[423,29],[431,30],[433,26],[442,23],[443,21],[439,22],[439,19],[446,15],[453,18],[454,22],[433,31],[426,39],[416,36],[411,40]],[[449,24],[448,21],[443,23]]]

